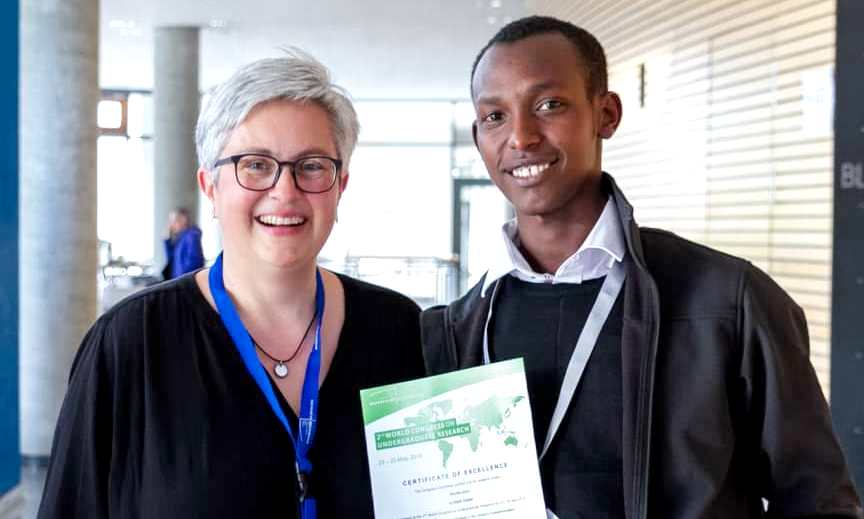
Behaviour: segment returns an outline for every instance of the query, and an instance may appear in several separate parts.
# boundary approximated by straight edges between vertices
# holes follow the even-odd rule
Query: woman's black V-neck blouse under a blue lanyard
[[[340,276],[345,324],[309,452],[318,516],[373,517],[360,389],[423,376],[417,305]],[[286,414],[296,417],[277,391]],[[133,295],[72,366],[39,518],[291,518],[294,451],[187,275]]]

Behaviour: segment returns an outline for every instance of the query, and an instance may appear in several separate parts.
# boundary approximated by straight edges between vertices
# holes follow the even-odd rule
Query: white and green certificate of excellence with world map
[[[360,392],[376,519],[544,519],[522,359]]]

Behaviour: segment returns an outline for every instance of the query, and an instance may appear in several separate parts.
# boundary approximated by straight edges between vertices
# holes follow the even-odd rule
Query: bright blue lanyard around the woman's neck
[[[219,317],[222,318],[222,323],[228,329],[228,334],[243,358],[243,364],[246,365],[247,371],[252,375],[252,378],[258,384],[258,388],[270,404],[270,408],[276,414],[276,418],[282,422],[285,430],[288,431],[288,436],[291,438],[291,444],[294,446],[296,455],[295,469],[297,472],[297,484],[300,488],[300,517],[302,519],[315,519],[317,517],[315,499],[307,495],[308,485],[307,477],[312,472],[312,462],[309,461],[308,453],[312,447],[312,441],[315,439],[315,427],[318,419],[318,375],[321,370],[321,322],[324,320],[324,283],[321,280],[321,272],[315,270],[315,343],[312,346],[312,351],[309,353],[309,360],[306,363],[306,375],[303,379],[303,392],[300,399],[300,416],[298,418],[299,431],[295,438],[294,432],[291,430],[291,425],[288,423],[288,418],[282,411],[279,401],[276,399],[276,393],[273,391],[273,385],[270,383],[270,377],[264,371],[264,366],[258,360],[258,355],[255,353],[255,346],[252,344],[252,337],[243,326],[243,321],[237,314],[237,309],[234,307],[234,302],[228,296],[225,290],[225,283],[222,279],[222,254],[216,258],[216,263],[210,268],[210,293],[213,294],[213,299],[216,302],[216,309],[219,311]]]

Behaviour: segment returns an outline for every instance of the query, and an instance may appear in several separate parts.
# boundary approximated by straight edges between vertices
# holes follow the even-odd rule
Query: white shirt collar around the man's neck
[[[481,297],[497,280],[512,275],[529,283],[582,283],[602,278],[616,261],[622,261],[626,252],[624,230],[612,197],[606,201],[597,223],[585,241],[572,256],[558,267],[554,274],[537,273],[519,251],[516,220],[501,227],[500,239],[492,250],[492,265],[486,272]]]

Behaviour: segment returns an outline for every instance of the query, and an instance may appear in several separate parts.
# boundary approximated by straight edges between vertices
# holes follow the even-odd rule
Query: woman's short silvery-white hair
[[[323,108],[330,117],[337,158],[348,164],[360,131],[351,99],[345,89],[331,81],[324,65],[290,47],[282,57],[245,65],[210,91],[195,126],[201,167],[215,175],[213,164],[219,160],[234,128],[259,104],[278,99],[312,102]]]

